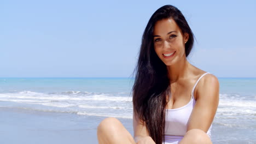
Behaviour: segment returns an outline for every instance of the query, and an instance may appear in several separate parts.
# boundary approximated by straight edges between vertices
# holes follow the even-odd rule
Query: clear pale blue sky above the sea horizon
[[[1,1],[0,77],[129,77],[162,5],[182,11],[189,62],[217,77],[256,77],[256,1]]]

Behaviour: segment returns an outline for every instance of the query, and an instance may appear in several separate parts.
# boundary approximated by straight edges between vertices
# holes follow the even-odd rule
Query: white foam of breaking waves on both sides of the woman
[[[240,100],[240,98],[241,96],[237,94],[220,94],[217,117],[255,117],[256,101]],[[131,118],[132,113],[132,97],[121,97],[109,93],[21,91],[0,93],[0,101],[13,103],[13,107],[24,106],[30,109],[42,109],[42,111],[71,112],[79,115]],[[102,109],[105,113],[102,113]]]

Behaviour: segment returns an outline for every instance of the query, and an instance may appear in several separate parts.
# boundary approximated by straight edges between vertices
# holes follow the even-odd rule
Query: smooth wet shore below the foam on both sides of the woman
[[[106,117],[0,107],[1,144],[98,143],[97,126]],[[132,119],[118,118],[133,136]],[[213,143],[256,143],[255,129],[213,123]],[[247,133],[247,136],[239,136]]]

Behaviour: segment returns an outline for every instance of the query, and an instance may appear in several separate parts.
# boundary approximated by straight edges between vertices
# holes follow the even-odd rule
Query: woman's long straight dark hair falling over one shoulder
[[[170,92],[170,80],[167,76],[166,65],[155,53],[153,31],[157,21],[170,18],[177,23],[183,34],[189,34],[189,39],[185,44],[185,55],[186,57],[189,55],[194,44],[194,35],[188,22],[176,7],[164,5],[150,17],[144,30],[135,69],[135,83],[132,88],[133,112],[146,123],[149,135],[156,144],[164,140],[166,95]]]

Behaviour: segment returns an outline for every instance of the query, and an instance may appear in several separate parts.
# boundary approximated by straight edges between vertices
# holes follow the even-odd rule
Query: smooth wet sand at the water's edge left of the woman
[[[0,108],[0,115],[2,144],[98,143],[97,125],[106,118],[11,108]],[[131,133],[132,119],[118,119]]]

